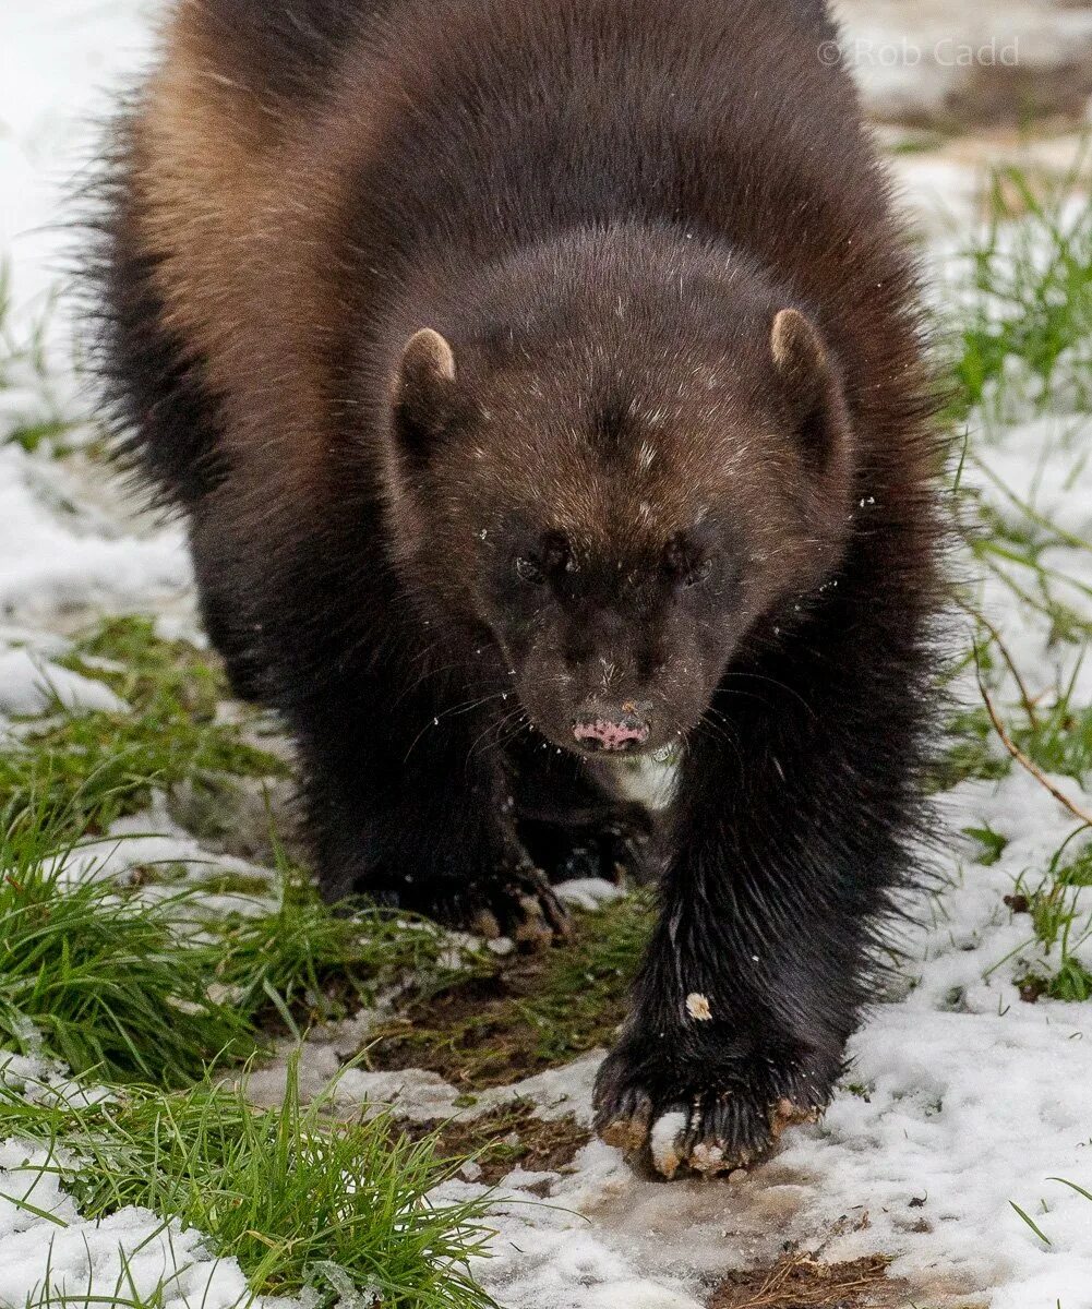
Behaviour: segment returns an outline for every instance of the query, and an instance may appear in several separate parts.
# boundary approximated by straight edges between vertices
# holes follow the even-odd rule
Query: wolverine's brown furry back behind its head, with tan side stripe
[[[183,407],[230,411],[242,459],[278,444],[291,359],[297,439],[272,465],[306,463],[346,348],[331,304],[352,297],[367,348],[406,280],[638,221],[775,264],[854,374],[890,370],[909,281],[829,35],[814,0],[185,0],[123,134],[107,357],[185,356]],[[174,497],[215,479],[194,440],[145,444]]]

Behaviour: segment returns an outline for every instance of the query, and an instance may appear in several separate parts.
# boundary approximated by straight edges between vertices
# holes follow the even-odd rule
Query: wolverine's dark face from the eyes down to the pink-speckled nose
[[[659,542],[636,517],[617,542],[522,516],[499,525],[481,594],[532,723],[579,753],[670,746],[745,628],[744,548],[710,516]]]

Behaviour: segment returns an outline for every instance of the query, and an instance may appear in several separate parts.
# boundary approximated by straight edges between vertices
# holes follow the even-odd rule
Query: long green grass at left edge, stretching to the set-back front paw
[[[446,975],[437,928],[367,906],[335,914],[287,865],[267,907],[213,914],[200,886],[148,898],[69,881],[80,850],[63,836],[47,804],[0,817],[0,1041],[20,1052],[182,1085],[271,1026],[299,1034],[406,973]]]

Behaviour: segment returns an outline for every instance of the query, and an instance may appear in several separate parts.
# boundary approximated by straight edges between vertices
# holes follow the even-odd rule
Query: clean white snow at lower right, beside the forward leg
[[[1075,793],[1071,779],[1054,780]],[[949,805],[953,823],[992,827],[1010,844],[991,868],[957,870],[915,950],[919,984],[854,1038],[850,1080],[860,1089],[820,1126],[790,1135],[778,1162],[867,1206],[868,1232],[831,1254],[903,1250],[893,1272],[914,1285],[996,1287],[992,1309],[1057,1300],[1080,1309],[1092,1304],[1092,1206],[1051,1179],[1092,1190],[1092,1014],[1021,1001],[1019,962],[1040,948],[1030,920],[1003,903],[1078,825],[1024,772],[1000,785],[966,783]],[[911,1212],[915,1198],[926,1203]],[[913,1232],[919,1221],[927,1240]]]

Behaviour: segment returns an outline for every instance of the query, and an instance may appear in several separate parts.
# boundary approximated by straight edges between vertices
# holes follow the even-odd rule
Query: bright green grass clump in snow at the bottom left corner
[[[317,1305],[373,1295],[389,1309],[486,1309],[466,1263],[484,1251],[487,1204],[428,1192],[458,1164],[431,1139],[412,1143],[389,1118],[331,1122],[329,1101],[299,1101],[295,1069],[278,1110],[255,1110],[241,1085],[165,1094],[130,1088],[111,1100],[58,1102],[0,1077],[0,1139],[48,1151],[22,1170],[52,1173],[84,1217],[127,1206],[177,1219],[234,1257],[255,1293],[317,1291]],[[13,1174],[14,1177],[16,1174]],[[9,1183],[10,1185],[10,1183]]]

